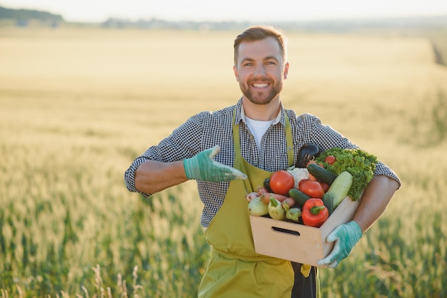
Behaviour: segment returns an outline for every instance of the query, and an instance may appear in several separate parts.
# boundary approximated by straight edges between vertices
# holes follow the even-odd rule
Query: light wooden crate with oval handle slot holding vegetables
[[[358,202],[345,197],[321,227],[250,215],[256,253],[317,266],[333,248],[326,237],[338,225],[352,220],[357,207]]]

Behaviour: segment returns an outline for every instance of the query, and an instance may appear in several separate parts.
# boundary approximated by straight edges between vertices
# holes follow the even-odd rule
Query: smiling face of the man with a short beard
[[[243,41],[239,45],[237,59],[233,71],[243,96],[260,105],[278,98],[287,78],[288,63],[284,63],[275,38]]]

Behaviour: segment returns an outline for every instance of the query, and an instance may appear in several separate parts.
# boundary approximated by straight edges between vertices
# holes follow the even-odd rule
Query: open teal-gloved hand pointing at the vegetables
[[[188,179],[204,180],[209,182],[222,182],[234,179],[247,179],[240,170],[216,162],[214,157],[219,153],[219,145],[202,151],[192,158],[184,160],[184,168]]]

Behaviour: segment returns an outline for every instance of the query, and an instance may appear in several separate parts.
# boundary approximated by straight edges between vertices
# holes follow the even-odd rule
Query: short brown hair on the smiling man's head
[[[283,32],[273,26],[251,26],[236,36],[236,39],[234,40],[234,65],[237,65],[238,63],[239,44],[241,44],[242,41],[261,41],[269,36],[278,41],[283,61],[286,62],[286,36],[284,36]]]

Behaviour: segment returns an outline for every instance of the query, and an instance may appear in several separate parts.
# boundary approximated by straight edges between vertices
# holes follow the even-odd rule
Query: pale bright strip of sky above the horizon
[[[447,0],[0,0],[9,9],[61,14],[65,21],[308,21],[447,15]]]

